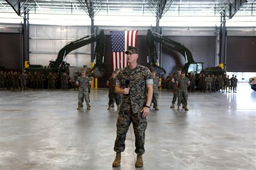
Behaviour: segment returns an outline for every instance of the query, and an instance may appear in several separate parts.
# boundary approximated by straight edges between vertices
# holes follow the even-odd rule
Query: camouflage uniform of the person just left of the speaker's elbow
[[[112,76],[107,80],[107,83],[109,84],[109,105],[114,104],[114,101],[116,101],[117,105],[121,103],[122,96],[116,93],[116,81],[117,77]]]

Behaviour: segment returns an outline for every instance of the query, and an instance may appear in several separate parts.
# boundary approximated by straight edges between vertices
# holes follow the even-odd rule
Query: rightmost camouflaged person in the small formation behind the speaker
[[[185,76],[185,71],[181,72],[180,79],[176,80],[176,86],[179,89],[177,110],[180,110],[180,104],[182,103],[183,107],[187,111],[188,110],[188,108],[187,108],[187,98],[188,98],[187,87],[190,86],[190,79],[188,79]]]

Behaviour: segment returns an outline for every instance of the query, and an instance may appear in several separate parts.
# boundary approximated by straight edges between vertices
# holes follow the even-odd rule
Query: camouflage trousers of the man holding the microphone
[[[135,152],[137,154],[145,153],[145,131],[147,128],[147,119],[142,117],[142,113],[132,113],[131,105],[127,105],[130,107],[130,111],[122,112],[119,111],[117,118],[117,138],[114,143],[114,151],[115,152],[124,152],[125,150],[125,139],[126,133],[129,129],[129,126],[132,122],[134,135],[135,135]]]

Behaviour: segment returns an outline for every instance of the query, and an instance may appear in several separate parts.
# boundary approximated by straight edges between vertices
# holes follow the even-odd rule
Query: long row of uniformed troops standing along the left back
[[[68,89],[70,77],[65,72],[62,75],[57,73],[49,73],[44,75],[43,73],[35,72],[31,74],[30,72],[22,72],[20,74],[16,71],[3,72],[0,70],[0,89],[7,90],[27,90],[27,89],[44,89],[44,82],[48,82],[48,89],[56,89],[57,81],[61,82],[61,89]]]

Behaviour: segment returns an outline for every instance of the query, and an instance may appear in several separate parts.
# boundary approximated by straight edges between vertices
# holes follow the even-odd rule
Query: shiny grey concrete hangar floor
[[[107,89],[90,98],[91,110],[78,111],[76,91],[0,91],[0,169],[135,169],[132,126],[112,168],[118,112],[107,111]],[[139,169],[256,169],[256,91],[190,93],[190,111],[171,100],[160,91]]]

